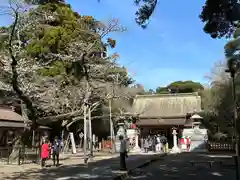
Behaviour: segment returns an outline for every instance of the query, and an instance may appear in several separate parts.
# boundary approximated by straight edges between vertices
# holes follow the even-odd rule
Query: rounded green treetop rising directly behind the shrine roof
[[[193,81],[175,81],[166,87],[158,87],[156,93],[192,93],[203,90],[204,87]]]

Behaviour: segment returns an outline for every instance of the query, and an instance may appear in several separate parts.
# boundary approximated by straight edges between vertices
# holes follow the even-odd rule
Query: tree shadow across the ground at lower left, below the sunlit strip
[[[131,156],[130,160],[132,163],[134,163],[134,158],[139,158],[139,156],[140,155]],[[144,157],[146,157],[146,155],[144,155]],[[129,166],[130,163],[131,162],[129,162]],[[8,180],[113,179],[113,177],[120,175],[121,173],[123,172],[119,171],[119,157],[115,157],[97,162],[89,162],[87,166],[83,164],[75,164],[44,169],[25,170],[22,173],[13,173],[11,176],[1,176],[1,178]]]

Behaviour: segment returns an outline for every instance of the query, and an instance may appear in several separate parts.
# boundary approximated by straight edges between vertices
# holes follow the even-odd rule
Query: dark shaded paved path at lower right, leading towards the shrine
[[[192,167],[190,161],[214,161],[209,164],[198,164]],[[224,160],[225,165],[219,161]],[[211,156],[207,154],[185,153],[177,156],[169,155],[164,160],[152,163],[143,169],[136,169],[129,180],[235,180],[233,160],[230,156]]]

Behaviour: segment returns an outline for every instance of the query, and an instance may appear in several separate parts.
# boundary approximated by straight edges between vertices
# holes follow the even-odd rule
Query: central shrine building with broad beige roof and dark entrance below
[[[140,135],[164,133],[172,136],[172,128],[180,133],[191,126],[189,115],[201,112],[201,97],[198,93],[137,95],[132,113],[138,116],[136,124]]]

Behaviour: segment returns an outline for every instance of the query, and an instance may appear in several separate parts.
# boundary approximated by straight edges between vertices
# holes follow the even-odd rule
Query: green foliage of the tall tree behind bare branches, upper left
[[[39,71],[41,75],[60,75],[64,73],[65,69],[67,75],[75,76],[76,79],[80,80],[86,75],[87,69],[87,62],[80,60],[82,48],[86,48],[91,43],[95,44],[91,48],[95,51],[106,49],[106,46],[115,47],[116,41],[111,38],[108,39],[107,43],[102,42],[97,33],[97,21],[92,16],[80,16],[72,10],[70,5],[62,2],[41,1],[39,4],[36,9],[29,13],[30,16],[39,18],[36,27],[33,30],[25,31],[22,36],[23,40],[27,42],[27,54],[41,62],[58,61],[59,59],[51,59],[54,57],[53,55],[55,57],[72,57],[64,58],[66,62],[59,60],[60,62],[47,64],[47,68],[42,68]],[[47,16],[41,18],[39,14],[47,14]],[[73,47],[76,42],[83,45]],[[71,48],[76,48],[76,50]],[[79,53],[72,52],[78,50]],[[92,58],[92,55],[88,56]]]

